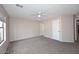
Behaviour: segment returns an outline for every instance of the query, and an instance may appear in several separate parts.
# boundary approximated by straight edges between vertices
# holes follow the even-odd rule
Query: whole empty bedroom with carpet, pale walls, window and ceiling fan
[[[0,54],[79,54],[79,4],[0,4]]]

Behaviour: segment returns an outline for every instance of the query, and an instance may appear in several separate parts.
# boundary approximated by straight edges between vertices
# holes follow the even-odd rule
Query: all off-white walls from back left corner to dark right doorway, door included
[[[58,23],[53,24],[55,20],[58,20]],[[48,19],[42,22],[29,19],[11,18],[9,25],[10,41],[44,35],[45,37],[52,38],[61,42],[74,42],[72,15],[52,18],[50,20]],[[55,27],[56,25],[57,27]],[[58,28],[57,32],[54,31],[56,28]],[[55,33],[56,35],[53,36],[53,34]]]

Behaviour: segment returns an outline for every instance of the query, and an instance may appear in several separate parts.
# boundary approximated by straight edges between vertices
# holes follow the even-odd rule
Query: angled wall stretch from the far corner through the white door
[[[44,30],[41,30],[41,33],[43,36],[61,41],[61,33],[59,31],[61,30],[60,26],[60,18],[52,18],[48,20],[44,20],[41,22],[43,26],[41,25],[41,28],[43,27]],[[60,35],[59,35],[60,34]]]

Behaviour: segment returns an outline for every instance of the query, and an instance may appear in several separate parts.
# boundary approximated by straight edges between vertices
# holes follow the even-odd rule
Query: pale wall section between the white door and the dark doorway
[[[73,16],[61,16],[62,41],[74,42]]]

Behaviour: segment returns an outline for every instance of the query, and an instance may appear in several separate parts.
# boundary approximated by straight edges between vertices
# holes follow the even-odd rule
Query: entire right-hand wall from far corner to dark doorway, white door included
[[[58,23],[53,24],[55,20],[59,20],[59,24]],[[52,38],[52,39],[55,39],[61,42],[74,42],[74,28],[73,28],[73,16],[72,15],[71,16],[64,15],[61,17],[54,18],[52,20],[45,20],[43,21],[43,24],[44,24],[43,35],[45,37]],[[57,28],[59,29],[55,32],[54,30]]]

